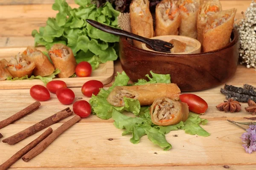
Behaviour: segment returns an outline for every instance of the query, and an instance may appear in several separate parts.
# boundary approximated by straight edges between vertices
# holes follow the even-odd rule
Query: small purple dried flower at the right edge
[[[247,153],[253,153],[256,150],[256,125],[250,125],[241,136],[244,142],[243,147]]]

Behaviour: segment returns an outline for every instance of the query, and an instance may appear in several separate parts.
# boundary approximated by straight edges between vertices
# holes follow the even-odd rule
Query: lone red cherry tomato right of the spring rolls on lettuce
[[[189,105],[189,111],[197,114],[205,113],[208,109],[207,102],[195,94],[181,94],[180,101]]]

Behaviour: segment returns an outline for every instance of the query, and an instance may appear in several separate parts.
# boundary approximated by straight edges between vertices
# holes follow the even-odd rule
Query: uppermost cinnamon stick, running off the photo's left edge
[[[41,103],[36,101],[36,102],[32,103],[31,105],[29,105],[28,107],[24,108],[23,110],[10,116],[9,118],[2,120],[0,122],[0,129],[3,127],[6,127],[7,125],[11,124],[12,122],[15,122],[16,120],[18,120],[24,116],[29,115],[30,113],[36,111],[40,105],[41,105]]]

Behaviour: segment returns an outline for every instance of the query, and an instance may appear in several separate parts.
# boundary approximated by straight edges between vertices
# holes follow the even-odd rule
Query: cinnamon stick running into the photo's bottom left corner
[[[10,159],[0,165],[0,170],[6,170],[12,164],[14,164],[17,160],[19,160],[23,155],[32,150],[36,145],[38,145],[41,141],[43,141],[49,134],[52,133],[52,128],[49,127],[44,133],[42,133],[37,139],[33,140],[31,143],[23,147],[17,153],[15,153]]]

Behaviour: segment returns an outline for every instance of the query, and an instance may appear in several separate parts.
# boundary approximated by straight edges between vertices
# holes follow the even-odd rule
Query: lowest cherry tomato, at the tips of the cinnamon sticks
[[[86,118],[90,116],[92,110],[90,104],[87,101],[79,100],[74,102],[73,111],[76,115],[80,116],[81,118]]]

